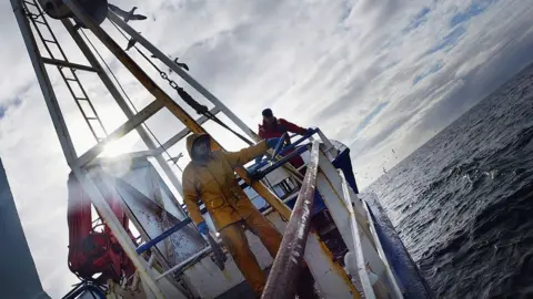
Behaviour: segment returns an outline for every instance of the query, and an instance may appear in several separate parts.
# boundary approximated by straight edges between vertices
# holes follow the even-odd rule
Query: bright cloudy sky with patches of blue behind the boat
[[[149,18],[131,25],[189,64],[190,74],[253,130],[261,110],[271,107],[279,117],[318,126],[349,145],[362,187],[533,60],[533,7],[524,0],[110,2],[124,9],[138,6]],[[8,1],[0,3],[0,157],[43,287],[59,298],[77,282],[67,267],[69,168]],[[51,23],[69,59],[87,63],[60,23]],[[114,28],[107,22],[102,27],[125,47]],[[135,107],[152,101],[88,35]],[[139,54],[129,53],[163,86]],[[80,155],[94,141],[57,70],[48,70]],[[97,76],[80,78],[112,132],[124,115]],[[149,125],[161,141],[182,127],[168,111],[155,116]],[[208,131],[228,148],[243,146],[215,125]],[[113,147],[142,150],[134,134]]]

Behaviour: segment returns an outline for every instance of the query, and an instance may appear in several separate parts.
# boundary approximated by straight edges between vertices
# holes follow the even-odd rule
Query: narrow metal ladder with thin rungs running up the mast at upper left
[[[108,136],[108,132],[105,131],[105,127],[102,124],[102,121],[100,120],[100,116],[98,115],[91,100],[89,99],[89,95],[87,94],[86,90],[83,89],[83,85],[80,82],[80,79],[78,78],[76,71],[81,70],[81,71],[89,71],[89,72],[98,72],[99,70],[95,70],[91,66],[86,66],[77,63],[71,63],[67,59],[67,55],[63,52],[63,49],[61,49],[61,45],[59,44],[58,40],[56,39],[56,34],[53,34],[47,18],[44,17],[44,12],[42,11],[41,7],[37,3],[36,0],[32,1],[22,1],[26,16],[30,20],[30,22],[33,24],[37,34],[41,39],[41,43],[44,45],[44,49],[47,50],[48,54],[50,58],[43,58],[41,56],[41,61],[46,64],[51,64],[56,65],[58,68],[59,73],[61,74],[61,78],[63,79],[64,83],[67,84],[67,87],[74,99],[76,104],[78,105],[78,109],[80,110],[83,120],[86,120],[87,124],[89,125],[89,128],[91,130],[92,135],[97,140],[97,142],[101,142]],[[32,8],[30,10],[30,7]],[[37,13],[34,13],[37,11]],[[48,30],[50,39],[44,38],[44,35],[41,32],[41,29]],[[59,50],[60,58],[57,59],[53,55],[53,52],[51,51],[50,47],[56,45],[57,49]],[[78,91],[78,92],[77,92]]]

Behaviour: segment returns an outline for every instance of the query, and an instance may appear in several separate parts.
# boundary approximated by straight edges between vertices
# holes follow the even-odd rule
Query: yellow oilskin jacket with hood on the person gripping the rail
[[[192,134],[187,138],[187,150],[191,155],[192,144],[205,134]],[[213,151],[207,164],[191,161],[183,169],[183,200],[192,220],[198,225],[204,221],[198,199],[205,205],[217,230],[230,224],[247,219],[257,209],[239,186],[234,169],[259,155],[265,154],[266,142],[239,152]]]

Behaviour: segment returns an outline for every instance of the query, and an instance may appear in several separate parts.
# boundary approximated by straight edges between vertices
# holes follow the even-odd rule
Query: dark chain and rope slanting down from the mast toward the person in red
[[[124,37],[124,39],[127,39],[128,41],[130,39],[128,39],[128,35],[125,35],[125,33],[122,32],[122,30],[114,23],[114,22],[111,22],[114,28],[120,32],[120,34],[122,34],[122,37]],[[222,122],[219,117],[217,117],[217,115],[214,115],[213,113],[211,113],[209,111],[209,109],[205,106],[205,105],[202,105],[200,104],[198,101],[195,101],[185,90],[183,90],[183,87],[180,87],[178,85],[178,83],[175,83],[175,81],[171,80],[169,78],[169,75],[161,71],[161,69],[158,68],[158,65],[155,65],[155,63],[152,62],[151,59],[149,59],[141,50],[139,50],[139,48],[137,45],[132,45],[132,48],[134,48],[137,50],[137,52],[139,52],[139,54],[141,56],[143,56],[151,65],[153,69],[155,69],[155,71],[161,75],[162,79],[164,79],[169,85],[175,90],[178,92],[178,94],[180,95],[180,97],[189,105],[191,106],[198,114],[201,114],[201,115],[204,115],[205,117],[208,117],[209,120],[215,122],[217,124],[219,124],[220,126],[222,126],[223,128],[230,131],[231,133],[233,133],[235,136],[238,136],[240,140],[242,140],[244,143],[247,143],[248,145],[253,145],[254,143],[251,142],[249,138],[247,138],[245,136],[243,136],[242,134],[240,134],[239,132],[234,131],[233,128],[231,128],[229,125],[227,125],[224,122]]]

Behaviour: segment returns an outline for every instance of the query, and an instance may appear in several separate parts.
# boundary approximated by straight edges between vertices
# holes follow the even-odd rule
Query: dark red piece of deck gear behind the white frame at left
[[[73,174],[70,174],[69,204],[67,219],[69,225],[69,268],[84,280],[103,283],[108,279],[120,282],[122,275],[131,276],[135,268],[128,258],[122,247],[105,225],[103,230],[97,231],[92,226],[91,199],[84,193]],[[131,235],[129,219],[120,205],[120,199],[110,193],[104,193],[105,200],[122,220],[122,226]],[[98,276],[101,274],[100,276]]]

